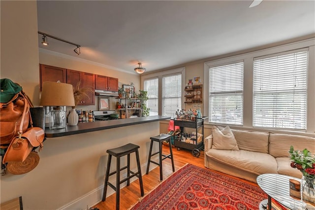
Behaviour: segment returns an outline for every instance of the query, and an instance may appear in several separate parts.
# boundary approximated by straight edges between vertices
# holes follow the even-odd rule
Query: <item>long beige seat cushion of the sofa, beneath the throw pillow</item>
[[[209,149],[206,155],[220,163],[233,168],[242,169],[256,175],[278,174],[276,159],[266,153],[247,150],[218,150]]]

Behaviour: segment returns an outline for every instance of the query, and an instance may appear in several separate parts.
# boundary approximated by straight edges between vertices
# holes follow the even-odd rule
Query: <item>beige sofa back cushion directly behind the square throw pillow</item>
[[[238,148],[252,152],[268,153],[269,133],[232,130]]]

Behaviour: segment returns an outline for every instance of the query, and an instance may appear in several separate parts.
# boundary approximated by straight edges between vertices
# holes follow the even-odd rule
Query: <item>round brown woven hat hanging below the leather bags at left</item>
[[[23,162],[9,162],[6,166],[8,172],[14,175],[23,175],[32,171],[39,163],[39,155],[32,151]]]

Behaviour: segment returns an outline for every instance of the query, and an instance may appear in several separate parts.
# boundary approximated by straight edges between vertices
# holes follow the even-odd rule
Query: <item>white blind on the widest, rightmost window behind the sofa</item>
[[[303,51],[254,60],[254,127],[306,130],[307,57]]]

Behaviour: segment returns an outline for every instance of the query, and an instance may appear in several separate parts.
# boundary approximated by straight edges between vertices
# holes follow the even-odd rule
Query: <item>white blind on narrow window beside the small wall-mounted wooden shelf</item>
[[[162,77],[162,115],[173,117],[182,109],[182,74]]]

